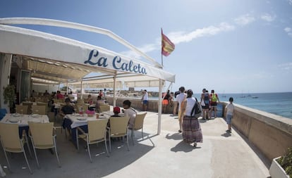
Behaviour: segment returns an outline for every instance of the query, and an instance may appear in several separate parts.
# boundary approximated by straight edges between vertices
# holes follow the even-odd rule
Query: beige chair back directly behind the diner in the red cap
[[[128,130],[128,122],[130,117],[109,117],[111,125],[111,134],[126,134]]]

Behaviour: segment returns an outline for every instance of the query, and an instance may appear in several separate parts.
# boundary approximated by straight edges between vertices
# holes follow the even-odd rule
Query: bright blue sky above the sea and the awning
[[[292,91],[292,0],[1,1],[0,17],[66,20],[118,34],[161,63],[161,28],[176,44],[164,70],[185,86],[218,93]],[[24,26],[24,25],[22,25]],[[25,27],[145,59],[102,34]],[[149,89],[156,90],[156,89]]]

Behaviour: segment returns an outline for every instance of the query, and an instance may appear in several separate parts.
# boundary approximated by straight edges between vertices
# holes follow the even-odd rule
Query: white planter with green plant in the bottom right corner
[[[288,148],[286,155],[273,159],[269,174],[272,178],[292,178],[292,148]]]

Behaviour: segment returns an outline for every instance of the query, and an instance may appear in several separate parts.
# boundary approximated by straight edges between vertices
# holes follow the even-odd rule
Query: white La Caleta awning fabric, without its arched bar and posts
[[[3,18],[0,19],[1,23],[8,22]],[[35,72],[42,69],[42,73],[37,72],[35,76],[53,76],[55,78],[52,80],[59,82],[68,81],[68,78],[81,80],[90,72],[112,76],[135,74],[156,80],[175,81],[174,74],[156,65],[54,34],[0,25],[0,42],[0,52],[23,56],[29,70]],[[50,75],[51,73],[54,75]]]

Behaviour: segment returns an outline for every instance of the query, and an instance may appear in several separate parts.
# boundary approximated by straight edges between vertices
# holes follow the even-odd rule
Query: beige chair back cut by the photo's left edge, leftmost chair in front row
[[[3,148],[8,152],[23,152],[20,145],[18,124],[9,124],[0,122],[0,139]]]

